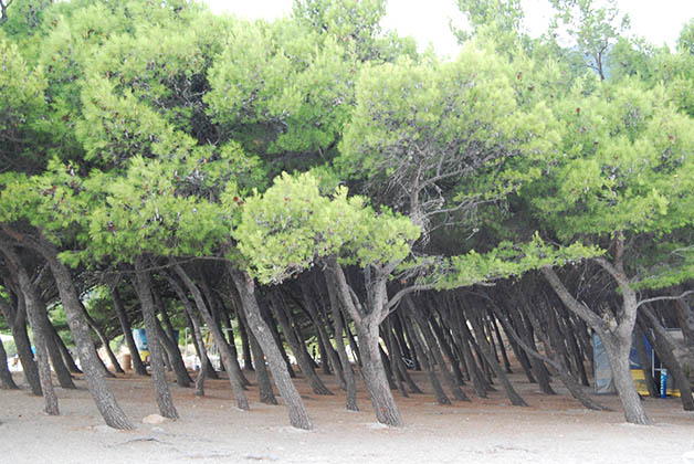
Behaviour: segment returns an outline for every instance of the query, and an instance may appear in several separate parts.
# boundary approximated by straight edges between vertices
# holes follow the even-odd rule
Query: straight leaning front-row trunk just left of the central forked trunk
[[[231,266],[229,266],[229,273],[239,292],[241,304],[245,312],[245,320],[265,354],[272,377],[287,408],[290,423],[297,429],[313,429],[302,397],[298,394],[298,391],[296,391],[294,383],[292,383],[290,371],[282,358],[280,348],[275,344],[272,333],[261,315],[257,300],[255,299],[255,284],[253,280],[246,273],[234,270]]]

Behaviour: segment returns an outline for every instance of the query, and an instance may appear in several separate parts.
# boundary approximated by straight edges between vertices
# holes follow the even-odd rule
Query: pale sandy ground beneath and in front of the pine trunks
[[[617,397],[598,398],[614,412],[587,411],[559,382],[553,387],[560,394],[549,397],[518,373],[512,379],[529,408],[512,407],[501,391],[473,398],[471,388],[464,390],[472,402],[442,407],[425,377],[414,379],[427,393],[395,392],[400,430],[376,423],[362,383],[361,412],[347,412],[332,377],[324,380],[334,397],[296,381],[311,432],[290,428],[283,407],[260,403],[255,386],[248,392],[252,411],[238,410],[227,380],[206,381],[204,398],[172,384],[181,419],[160,425],[141,422],[158,412],[149,379],[109,380],[136,423],[128,432],[104,425],[84,380],[76,391],[57,389],[61,416],[42,413],[42,399],[25,389],[0,390],[0,463],[684,463],[694,452],[694,413],[679,399],[645,399],[653,425],[635,426],[623,423]]]

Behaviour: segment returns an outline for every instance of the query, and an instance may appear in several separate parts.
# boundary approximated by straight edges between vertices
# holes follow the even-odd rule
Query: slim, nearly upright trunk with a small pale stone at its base
[[[157,328],[159,323],[157,321],[157,309],[155,307],[154,296],[151,295],[151,277],[145,267],[145,260],[143,256],[137,256],[134,264],[134,285],[135,292],[137,293],[137,297],[139,298],[141,305],[143,317],[145,319],[145,330],[148,337],[147,347],[149,348],[149,365],[151,367],[151,378],[155,386],[157,405],[159,407],[161,415],[176,420],[179,415],[176,407],[174,405],[169,383],[166,379],[161,346],[157,339]],[[161,330],[160,327],[159,330]]]

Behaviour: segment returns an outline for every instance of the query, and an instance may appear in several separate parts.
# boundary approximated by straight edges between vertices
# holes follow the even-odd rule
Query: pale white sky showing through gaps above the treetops
[[[249,19],[275,19],[292,12],[292,0],[203,0],[213,11],[229,11]],[[631,33],[644,36],[655,45],[667,43],[674,50],[682,27],[694,18],[694,0],[618,0],[622,12],[631,18]],[[547,30],[553,10],[547,0],[523,0],[525,24],[532,35]],[[437,53],[455,55],[458,44],[449,29],[464,23],[455,0],[389,0],[382,28],[400,35],[412,35],[420,50],[432,43]]]

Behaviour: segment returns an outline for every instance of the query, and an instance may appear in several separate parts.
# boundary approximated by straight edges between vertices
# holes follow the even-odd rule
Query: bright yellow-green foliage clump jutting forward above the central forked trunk
[[[389,210],[377,213],[344,187],[326,197],[313,176],[283,173],[246,200],[234,236],[254,276],[276,283],[332,255],[360,266],[402,261],[419,229]]]

